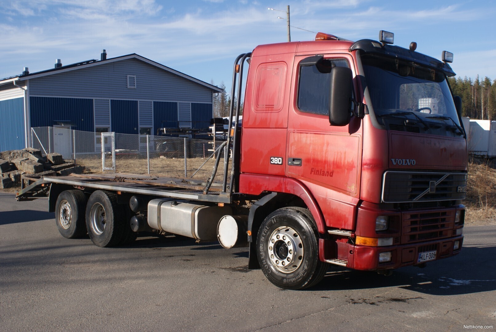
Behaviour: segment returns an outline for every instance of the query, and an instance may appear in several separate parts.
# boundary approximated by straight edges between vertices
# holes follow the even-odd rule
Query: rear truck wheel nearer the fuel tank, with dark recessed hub
[[[117,203],[113,192],[97,190],[86,205],[86,227],[88,235],[96,246],[113,247],[124,240],[124,209]]]

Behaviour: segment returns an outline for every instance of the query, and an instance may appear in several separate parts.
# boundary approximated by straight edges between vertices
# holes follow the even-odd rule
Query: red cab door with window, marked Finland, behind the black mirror
[[[329,226],[353,228],[360,188],[361,119],[345,126],[329,124],[330,71],[352,69],[348,54],[324,55],[325,67],[301,65],[297,56],[288,118],[286,176],[302,180],[314,195]],[[356,91],[356,90],[355,90]]]

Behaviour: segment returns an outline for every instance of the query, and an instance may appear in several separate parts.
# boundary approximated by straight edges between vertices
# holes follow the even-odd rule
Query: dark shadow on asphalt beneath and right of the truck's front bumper
[[[374,272],[330,267],[318,285],[309,290],[343,290],[399,287],[431,295],[459,295],[496,290],[496,244],[463,247],[460,255],[428,264],[425,269],[406,267],[385,277]]]

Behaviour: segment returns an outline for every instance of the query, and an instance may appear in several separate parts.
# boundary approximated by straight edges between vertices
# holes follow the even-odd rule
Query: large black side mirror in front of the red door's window
[[[352,87],[353,73],[350,68],[332,68],[329,96],[329,123],[331,125],[345,126],[350,123]]]

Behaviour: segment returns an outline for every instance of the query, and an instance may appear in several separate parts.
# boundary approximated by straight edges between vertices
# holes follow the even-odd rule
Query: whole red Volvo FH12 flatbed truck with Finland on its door
[[[379,40],[256,47],[238,56],[224,177],[45,176],[17,199],[49,197],[61,234],[130,243],[155,229],[225,248],[250,269],[302,289],[330,265],[388,275],[458,254],[467,181],[461,99],[448,62]]]

